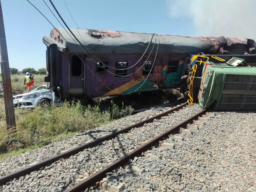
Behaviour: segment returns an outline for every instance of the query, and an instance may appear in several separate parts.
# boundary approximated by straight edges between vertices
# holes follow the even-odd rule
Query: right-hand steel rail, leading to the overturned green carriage
[[[192,120],[196,119],[197,117],[205,113],[206,113],[206,109],[200,111],[199,113],[195,114],[192,117],[189,117],[187,120],[184,120],[180,124],[172,127],[171,129],[165,131],[164,133],[160,134],[159,136],[155,137],[154,139],[150,140],[149,142],[145,143],[144,145],[140,146],[134,151],[128,153],[122,158],[119,158],[115,162],[101,169],[101,171],[94,173],[90,177],[87,177],[85,180],[65,190],[65,192],[76,192],[76,191],[84,190],[93,186],[93,184],[95,184],[96,182],[101,181],[105,177],[105,174],[107,174],[108,172],[111,172],[113,169],[118,168],[119,166],[123,166],[126,162],[128,162],[129,159],[133,159],[136,156],[140,156],[142,152],[146,151],[146,149],[150,148],[151,146],[154,146],[157,142],[159,142],[163,138],[168,137],[171,133],[178,130],[180,127],[187,125],[187,123],[190,123]]]

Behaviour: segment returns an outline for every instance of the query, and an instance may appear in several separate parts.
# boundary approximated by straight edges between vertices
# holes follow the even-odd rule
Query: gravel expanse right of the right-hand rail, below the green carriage
[[[209,115],[183,141],[163,141],[175,149],[153,148],[105,182],[116,179],[123,191],[256,191],[255,112]]]

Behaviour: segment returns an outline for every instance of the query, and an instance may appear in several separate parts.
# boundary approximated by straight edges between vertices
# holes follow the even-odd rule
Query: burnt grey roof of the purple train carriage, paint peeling
[[[71,29],[78,40],[87,48],[89,54],[142,54],[151,41],[153,34],[121,32],[110,30]],[[73,40],[74,39],[74,40]],[[75,40],[67,34],[64,28],[54,28],[50,36],[43,37],[46,46],[56,44],[62,52],[84,53],[84,50]],[[250,47],[256,47],[251,39],[226,38],[226,37],[189,37],[178,35],[154,34],[149,53],[154,43],[159,42],[158,54],[195,54],[204,52],[215,54],[220,47],[225,47],[229,52],[241,54]]]

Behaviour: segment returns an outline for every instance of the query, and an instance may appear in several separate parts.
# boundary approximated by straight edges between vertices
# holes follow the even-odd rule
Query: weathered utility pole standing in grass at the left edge
[[[16,130],[15,114],[12,99],[12,84],[9,69],[8,52],[5,38],[5,26],[3,23],[2,4],[0,0],[0,65],[3,79],[3,92],[5,100],[5,116],[7,130],[12,128],[12,131]]]

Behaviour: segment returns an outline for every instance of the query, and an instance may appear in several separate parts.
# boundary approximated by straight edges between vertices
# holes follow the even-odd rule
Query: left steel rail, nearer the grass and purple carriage
[[[24,176],[24,175],[26,175],[30,172],[36,171],[36,170],[42,168],[43,166],[49,165],[49,164],[51,164],[51,163],[53,163],[53,162],[55,162],[55,161],[57,161],[61,158],[67,158],[67,157],[70,157],[71,155],[77,154],[80,151],[83,151],[84,149],[94,147],[94,146],[98,145],[101,142],[104,142],[106,140],[110,140],[110,139],[114,138],[118,134],[126,133],[126,132],[130,131],[132,128],[142,126],[144,123],[149,123],[152,120],[159,119],[160,117],[166,116],[167,114],[172,113],[173,111],[180,110],[181,108],[183,108],[186,105],[187,105],[187,102],[184,103],[184,104],[181,104],[178,107],[174,107],[174,108],[172,108],[168,111],[164,111],[163,113],[157,114],[153,117],[150,117],[148,119],[142,120],[142,121],[140,121],[138,123],[135,123],[133,125],[122,128],[122,129],[120,129],[120,130],[118,130],[114,133],[110,133],[106,136],[103,136],[103,137],[95,139],[91,142],[85,143],[84,145],[81,145],[81,146],[78,146],[76,148],[70,149],[69,151],[66,151],[66,152],[63,152],[61,154],[55,155],[53,157],[47,158],[46,160],[35,163],[34,165],[30,165],[30,166],[22,168],[18,171],[12,172],[12,173],[7,174],[7,175],[4,175],[4,176],[0,177],[0,185],[6,184],[8,181],[10,181],[14,178],[21,177],[21,176]]]

